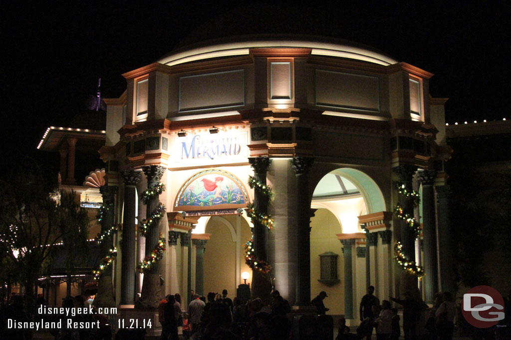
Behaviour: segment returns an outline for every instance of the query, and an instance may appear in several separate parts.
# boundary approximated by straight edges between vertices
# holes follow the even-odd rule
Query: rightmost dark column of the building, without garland
[[[450,188],[448,186],[436,186],[435,190],[438,201],[437,247],[439,288],[442,292],[454,294],[456,289],[452,275],[452,245],[449,223]]]

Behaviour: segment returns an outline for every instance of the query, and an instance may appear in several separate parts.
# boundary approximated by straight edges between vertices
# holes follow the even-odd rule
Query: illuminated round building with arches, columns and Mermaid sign
[[[452,289],[446,99],[430,96],[431,73],[287,37],[188,46],[123,75],[99,150],[103,231],[122,226],[102,275],[115,304],[233,296],[249,272],[254,296],[274,287],[299,309],[326,291],[329,313],[354,324],[368,285],[426,302]]]

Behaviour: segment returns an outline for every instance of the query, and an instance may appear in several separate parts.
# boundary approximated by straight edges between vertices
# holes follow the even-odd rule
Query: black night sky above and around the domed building
[[[448,122],[511,118],[505,5],[9,3],[2,9],[7,159],[40,156],[35,150],[44,130],[65,126],[83,111],[98,77],[103,94],[117,97],[126,87],[121,73],[156,61],[183,41],[243,33],[327,35],[364,43],[434,73],[430,92],[450,98]]]

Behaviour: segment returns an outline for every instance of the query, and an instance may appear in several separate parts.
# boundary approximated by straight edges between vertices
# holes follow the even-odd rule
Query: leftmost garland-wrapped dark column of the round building
[[[115,193],[117,192],[117,187],[114,186],[101,186],[99,188],[101,196],[103,196],[103,205],[106,207],[105,214],[103,215],[103,220],[101,221],[101,233],[109,230],[113,226],[113,212],[114,212],[114,202],[115,202]],[[113,246],[113,233],[104,238],[100,245],[100,256],[101,258],[108,255],[110,249]],[[95,306],[98,307],[114,307],[115,299],[113,297],[113,284],[112,284],[112,266],[106,267],[101,275],[98,282],[98,294],[95,299]]]

